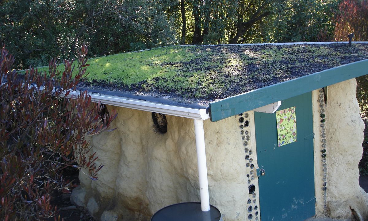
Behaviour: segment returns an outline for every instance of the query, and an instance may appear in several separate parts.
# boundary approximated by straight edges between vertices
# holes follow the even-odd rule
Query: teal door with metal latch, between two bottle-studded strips
[[[261,221],[303,221],[315,214],[311,92],[282,101],[295,107],[297,141],[277,146],[276,113],[254,113]]]

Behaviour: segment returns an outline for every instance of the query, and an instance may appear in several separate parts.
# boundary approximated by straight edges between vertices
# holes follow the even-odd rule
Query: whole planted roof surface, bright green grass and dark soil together
[[[84,83],[213,99],[366,58],[366,44],[169,46],[89,59]]]

